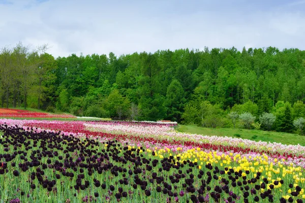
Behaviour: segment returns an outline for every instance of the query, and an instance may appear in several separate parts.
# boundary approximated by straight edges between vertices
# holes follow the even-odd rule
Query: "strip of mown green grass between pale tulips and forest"
[[[253,141],[277,142],[286,145],[300,144],[305,146],[305,136],[286,132],[273,132],[263,130],[248,130],[239,128],[205,128],[196,125],[178,125],[175,128],[179,132],[189,132],[192,134],[203,134],[206,136],[220,136],[242,138]],[[238,136],[240,135],[240,137]]]

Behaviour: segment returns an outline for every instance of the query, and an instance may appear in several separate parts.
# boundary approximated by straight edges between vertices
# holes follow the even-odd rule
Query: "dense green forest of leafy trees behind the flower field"
[[[205,47],[54,58],[46,46],[19,43],[1,49],[0,97],[4,108],[302,133],[305,51]]]

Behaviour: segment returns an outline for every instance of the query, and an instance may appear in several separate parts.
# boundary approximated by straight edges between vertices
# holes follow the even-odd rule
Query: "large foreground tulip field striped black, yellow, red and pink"
[[[0,119],[0,199],[305,200],[305,147],[180,133],[174,125]]]

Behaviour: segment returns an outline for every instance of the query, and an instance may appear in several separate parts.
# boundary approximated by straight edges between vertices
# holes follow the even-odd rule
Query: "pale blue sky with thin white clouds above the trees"
[[[305,50],[305,0],[0,0],[0,48],[54,57],[180,48]]]

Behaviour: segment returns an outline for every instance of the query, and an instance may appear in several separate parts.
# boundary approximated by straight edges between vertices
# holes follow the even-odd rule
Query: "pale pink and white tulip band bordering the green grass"
[[[176,132],[170,126],[135,126],[135,125],[113,125],[112,123],[84,123],[91,131],[111,132],[115,134],[133,134],[151,137],[155,139],[178,140],[181,142],[208,143],[227,147],[250,149],[254,152],[272,153],[276,156],[305,157],[305,147],[300,145],[283,145],[281,143],[255,142],[240,138],[228,138],[217,136],[202,136],[200,134],[189,134]]]

